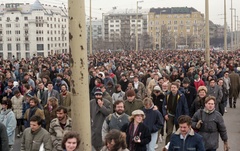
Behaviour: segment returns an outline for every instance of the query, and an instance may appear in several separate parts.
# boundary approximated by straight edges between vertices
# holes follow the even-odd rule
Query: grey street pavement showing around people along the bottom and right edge
[[[227,127],[228,132],[228,143],[231,151],[240,151],[239,143],[240,143],[240,100],[237,101],[237,108],[227,108],[227,113],[223,116],[225,125]],[[164,141],[160,143],[159,147],[156,151],[162,151],[164,146]],[[21,138],[17,138],[15,140],[15,145],[13,146],[13,151],[20,151],[21,146]],[[219,148],[217,151],[223,151],[223,142],[221,138],[219,138]]]

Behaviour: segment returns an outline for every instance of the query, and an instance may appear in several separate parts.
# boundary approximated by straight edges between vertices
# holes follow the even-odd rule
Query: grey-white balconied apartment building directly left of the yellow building
[[[147,16],[149,9],[112,11],[103,14],[104,40],[109,49],[135,49],[136,31],[141,49],[141,37],[147,34]],[[137,19],[138,18],[138,19]]]

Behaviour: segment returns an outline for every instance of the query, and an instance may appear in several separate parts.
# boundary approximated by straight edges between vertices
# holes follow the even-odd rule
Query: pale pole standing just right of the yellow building
[[[205,0],[205,57],[206,63],[210,66],[210,40],[209,40],[209,2]]]

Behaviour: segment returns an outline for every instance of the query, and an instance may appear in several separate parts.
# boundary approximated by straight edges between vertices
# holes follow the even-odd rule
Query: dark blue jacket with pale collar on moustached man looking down
[[[180,130],[178,129],[171,136],[168,151],[187,150],[205,151],[202,136],[195,133],[193,129],[191,129],[190,133],[187,135],[187,138],[184,140],[181,138]]]

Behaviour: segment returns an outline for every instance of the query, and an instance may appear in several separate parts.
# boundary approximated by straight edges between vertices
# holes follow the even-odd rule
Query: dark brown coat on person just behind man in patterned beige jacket
[[[52,108],[52,110],[50,111],[48,108],[48,105],[46,105],[44,107],[44,115],[45,115],[45,123],[46,123],[46,130],[49,130],[50,127],[50,123],[51,121],[57,117],[57,108],[58,106],[55,106]]]

